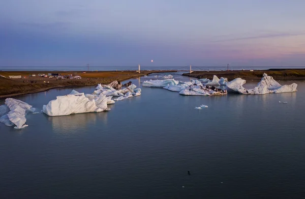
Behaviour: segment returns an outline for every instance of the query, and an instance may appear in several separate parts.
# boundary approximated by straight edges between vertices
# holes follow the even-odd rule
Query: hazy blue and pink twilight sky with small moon
[[[2,0],[0,66],[305,66],[304,8],[303,0]]]

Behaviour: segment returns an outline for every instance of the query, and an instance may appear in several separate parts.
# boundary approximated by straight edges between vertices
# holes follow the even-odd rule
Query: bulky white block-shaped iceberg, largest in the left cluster
[[[47,105],[43,105],[43,112],[48,116],[68,116],[74,113],[102,112],[107,110],[107,98],[105,95],[92,96],[90,99],[84,93],[72,91],[65,96],[57,96]]]

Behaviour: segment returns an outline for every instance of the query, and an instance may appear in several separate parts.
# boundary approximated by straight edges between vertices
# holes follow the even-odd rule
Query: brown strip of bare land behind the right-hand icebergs
[[[220,77],[226,77],[228,80],[233,80],[237,77],[242,79],[260,79],[263,74],[272,76],[275,79],[299,79],[305,78],[305,69],[269,69],[269,70],[234,70],[234,71],[194,71],[190,73],[184,73],[182,75],[196,78],[209,78],[212,79],[213,75]]]

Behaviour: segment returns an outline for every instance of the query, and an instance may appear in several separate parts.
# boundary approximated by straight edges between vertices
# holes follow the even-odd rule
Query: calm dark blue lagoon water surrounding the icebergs
[[[304,198],[305,81],[295,82],[296,93],[266,95],[143,88],[109,112],[0,124],[0,198]],[[16,98],[42,108],[70,91]]]

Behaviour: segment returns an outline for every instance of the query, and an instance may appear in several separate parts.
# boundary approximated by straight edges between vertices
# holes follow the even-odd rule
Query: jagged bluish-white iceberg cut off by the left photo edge
[[[21,129],[27,127],[26,113],[34,112],[35,108],[31,105],[13,98],[7,98],[5,105],[0,106],[0,122],[7,126],[16,125],[14,128]]]

